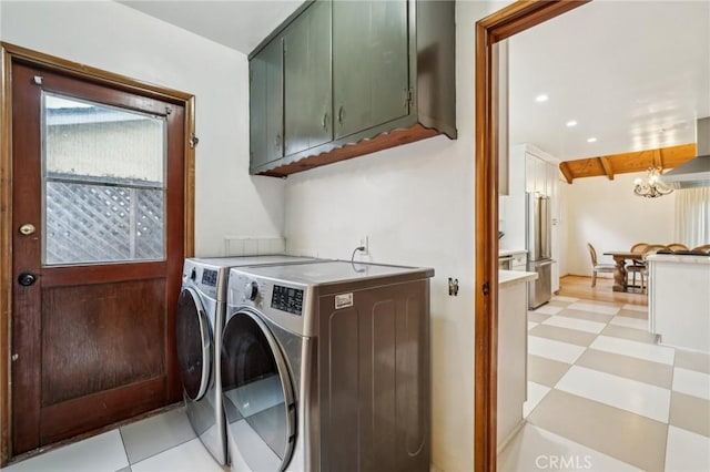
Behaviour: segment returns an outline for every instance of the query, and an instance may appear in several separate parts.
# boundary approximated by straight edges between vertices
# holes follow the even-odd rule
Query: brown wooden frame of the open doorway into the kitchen
[[[498,70],[494,44],[591,0],[519,0],[476,22],[474,468],[497,468]]]

